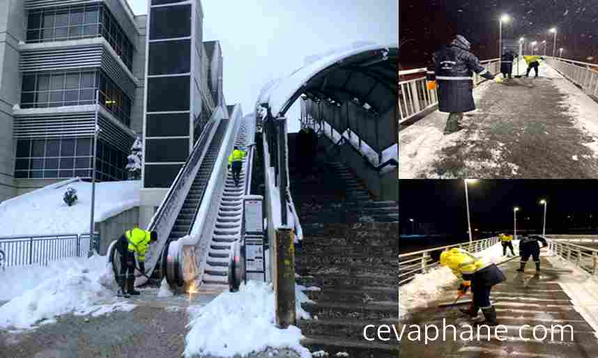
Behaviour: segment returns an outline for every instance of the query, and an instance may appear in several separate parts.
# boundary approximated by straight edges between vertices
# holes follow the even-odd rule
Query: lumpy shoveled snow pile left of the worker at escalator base
[[[114,297],[116,284],[106,256],[69,258],[40,268],[46,272],[37,267],[0,272],[1,291],[4,297],[12,296],[0,306],[0,329],[28,329],[67,313],[99,316],[135,308]]]

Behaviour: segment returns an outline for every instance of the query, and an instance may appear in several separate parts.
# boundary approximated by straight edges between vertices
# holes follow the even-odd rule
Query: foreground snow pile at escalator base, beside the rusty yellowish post
[[[296,297],[297,318],[309,318],[300,305],[307,297],[300,290]],[[208,305],[190,309],[190,316],[185,357],[245,357],[268,347],[289,348],[302,358],[312,357],[300,344],[298,327],[275,326],[275,294],[266,283],[249,281],[237,293],[224,292]]]

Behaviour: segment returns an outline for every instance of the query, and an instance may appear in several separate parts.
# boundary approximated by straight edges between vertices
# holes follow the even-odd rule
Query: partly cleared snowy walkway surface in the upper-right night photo
[[[546,63],[474,97],[459,132],[439,111],[399,132],[400,178],[597,178],[598,104]]]

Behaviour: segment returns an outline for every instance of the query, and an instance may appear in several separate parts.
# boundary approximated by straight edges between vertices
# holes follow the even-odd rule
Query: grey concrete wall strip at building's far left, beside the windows
[[[0,201],[16,194],[13,106],[19,102],[19,41],[25,37],[23,1],[0,0]]]

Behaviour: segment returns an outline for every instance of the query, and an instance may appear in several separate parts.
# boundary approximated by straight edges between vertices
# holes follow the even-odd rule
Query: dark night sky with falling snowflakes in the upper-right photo
[[[472,42],[480,59],[498,57],[498,19],[503,38],[547,41],[551,55],[555,26],[557,52],[563,57],[598,63],[598,0],[399,0],[399,43],[402,68],[426,65],[431,54],[460,33]],[[543,45],[539,52],[544,53]]]

